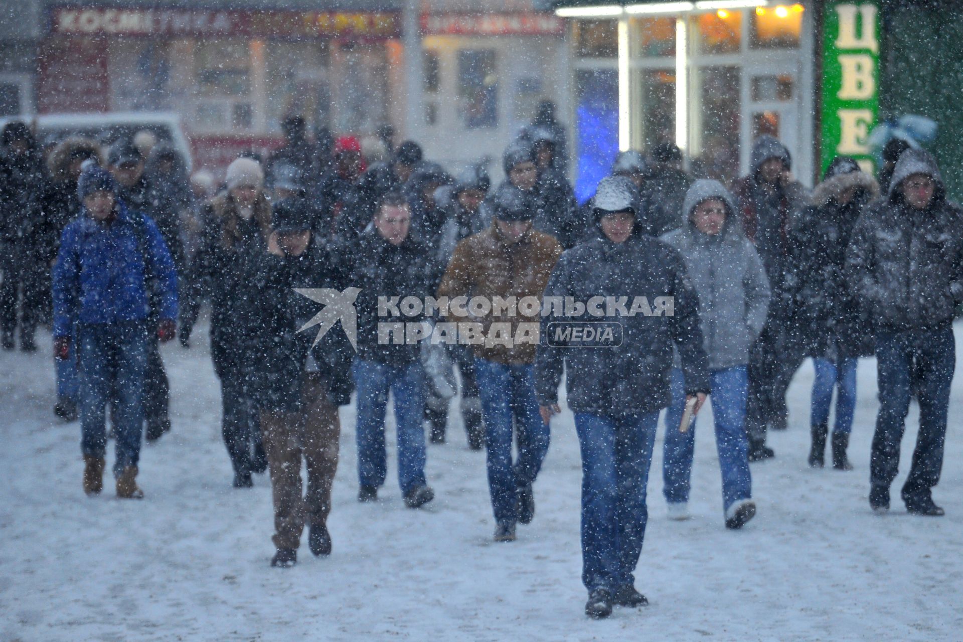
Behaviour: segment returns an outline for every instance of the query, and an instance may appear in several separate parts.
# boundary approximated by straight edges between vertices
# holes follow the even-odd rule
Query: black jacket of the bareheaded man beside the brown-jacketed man
[[[424,301],[433,295],[441,270],[431,248],[410,234],[402,244],[393,245],[381,238],[377,229],[369,228],[355,243],[339,247],[338,251],[348,266],[348,284],[360,290],[354,302],[358,357],[395,367],[419,359],[417,345],[379,345],[377,329],[381,322],[418,322],[425,317],[396,316],[391,310],[386,316],[378,316],[377,298],[416,296]]]

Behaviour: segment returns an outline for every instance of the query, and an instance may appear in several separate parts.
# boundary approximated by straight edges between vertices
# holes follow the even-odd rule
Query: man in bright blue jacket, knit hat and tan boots
[[[77,196],[83,208],[64,228],[53,273],[54,352],[57,359],[68,357],[70,328],[76,324],[84,491],[96,495],[103,487],[104,411],[113,386],[117,497],[141,499],[136,478],[147,334],[156,331],[165,342],[173,338],[177,276],[157,226],[127,210],[110,173],[87,167]],[[156,328],[147,327],[151,305],[160,320]]]

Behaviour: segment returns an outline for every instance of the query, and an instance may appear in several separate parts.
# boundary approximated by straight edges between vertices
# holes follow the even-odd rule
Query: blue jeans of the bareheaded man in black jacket
[[[398,431],[398,482],[402,494],[425,485],[425,371],[421,363],[394,367],[377,361],[354,360],[357,389],[358,479],[378,487],[387,475],[384,415],[388,391],[395,396]]]

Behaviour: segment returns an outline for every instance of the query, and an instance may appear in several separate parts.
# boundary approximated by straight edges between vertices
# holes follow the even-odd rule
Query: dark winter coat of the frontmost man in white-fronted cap
[[[628,296],[630,303],[635,296],[645,296],[650,304],[656,297],[672,296],[674,314],[617,318],[623,326],[623,341],[618,347],[549,346],[548,323],[564,319],[543,317],[535,357],[539,404],[557,401],[564,370],[568,405],[574,412],[656,412],[671,400],[673,346],[682,357],[687,393],[709,392],[698,297],[674,248],[643,235],[622,244],[599,237],[576,245],[561,255],[544,296],[572,296],[582,302],[592,296]]]

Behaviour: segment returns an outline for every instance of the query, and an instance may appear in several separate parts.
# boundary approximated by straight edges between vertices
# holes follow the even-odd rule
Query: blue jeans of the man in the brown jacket
[[[515,493],[531,484],[548,452],[549,427],[538,414],[532,366],[475,360],[487,446],[488,490],[498,522],[515,522]],[[512,422],[518,426],[518,460],[511,463]]]

